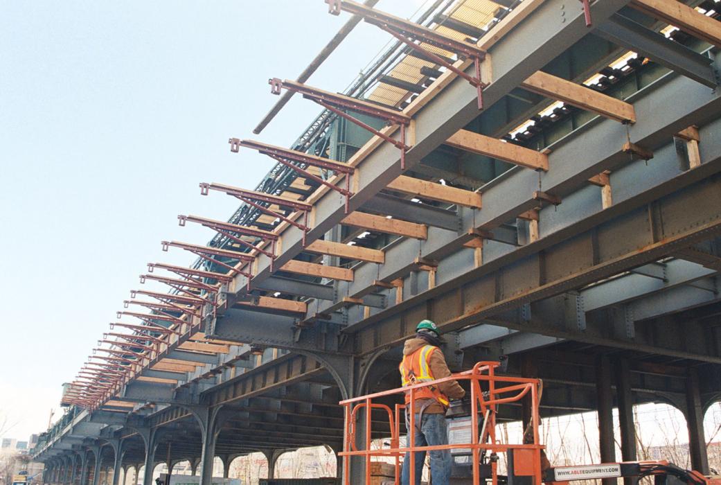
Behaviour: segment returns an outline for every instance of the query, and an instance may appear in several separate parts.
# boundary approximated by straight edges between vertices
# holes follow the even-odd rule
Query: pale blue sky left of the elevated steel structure
[[[407,17],[423,0],[381,0]],[[0,0],[0,412],[25,439],[71,380],[160,240],[205,243],[177,214],[226,219],[270,159],[231,154],[348,20],[322,0]],[[389,35],[361,24],[310,83],[340,91]],[[258,138],[290,144],[319,109],[296,99]],[[59,411],[58,411],[59,414]],[[56,416],[58,415],[56,414]],[[0,416],[1,419],[1,416]]]

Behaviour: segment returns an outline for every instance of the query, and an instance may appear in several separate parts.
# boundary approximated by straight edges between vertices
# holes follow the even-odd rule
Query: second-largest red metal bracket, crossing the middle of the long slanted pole
[[[345,118],[351,123],[355,123],[364,130],[370,131],[372,134],[379,136],[381,139],[388,141],[390,144],[393,144],[401,151],[401,169],[405,169],[405,154],[407,150],[410,149],[410,146],[407,145],[405,142],[406,128],[411,121],[410,116],[396,109],[388,108],[382,105],[376,105],[368,101],[357,100],[355,99],[355,97],[337,95],[333,92],[323,91],[322,89],[310,87],[306,84],[301,84],[300,82],[291,81],[289,79],[281,81],[277,77],[274,77],[273,79],[268,79],[268,84],[270,84],[270,92],[274,95],[280,95],[280,89],[282,88],[288,89],[288,91],[291,92],[299,92],[306,99],[317,102],[323,108],[332,111],[333,113],[339,115],[342,118]],[[373,116],[373,118],[385,120],[387,123],[396,123],[401,128],[400,140],[394,139],[391,136],[388,136],[381,131],[376,130],[376,128],[373,128],[373,126],[370,126],[367,123],[363,123],[363,121],[359,120],[358,118],[354,118],[348,113],[345,113],[345,111],[343,110],[363,113],[369,116]]]

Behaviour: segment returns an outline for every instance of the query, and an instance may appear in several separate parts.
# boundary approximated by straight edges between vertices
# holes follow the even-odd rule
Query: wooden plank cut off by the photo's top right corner
[[[631,6],[655,19],[721,47],[721,23],[676,0],[632,0]]]

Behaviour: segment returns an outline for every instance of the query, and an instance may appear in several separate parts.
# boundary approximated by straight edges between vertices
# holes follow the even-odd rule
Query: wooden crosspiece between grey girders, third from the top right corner
[[[548,170],[548,155],[468,130],[459,130],[446,145],[534,170]]]

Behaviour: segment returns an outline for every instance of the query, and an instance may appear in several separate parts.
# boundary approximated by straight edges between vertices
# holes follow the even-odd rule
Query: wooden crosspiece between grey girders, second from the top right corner
[[[676,1],[676,0],[671,0]],[[521,83],[523,89],[552,100],[566,102],[582,110],[592,111],[612,120],[636,123],[633,105],[615,97],[594,91],[583,84],[567,81],[543,71],[537,71]]]

